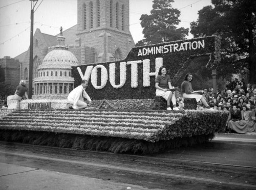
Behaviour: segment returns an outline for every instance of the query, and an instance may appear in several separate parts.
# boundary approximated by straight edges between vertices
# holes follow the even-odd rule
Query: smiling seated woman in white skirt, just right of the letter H
[[[172,110],[170,107],[170,100],[173,102],[173,110],[179,110],[176,105],[176,95],[175,92],[168,91],[168,89],[173,88],[170,84],[170,76],[166,74],[166,68],[164,66],[159,68],[158,75],[156,77],[156,95],[162,96],[167,101],[166,110]]]

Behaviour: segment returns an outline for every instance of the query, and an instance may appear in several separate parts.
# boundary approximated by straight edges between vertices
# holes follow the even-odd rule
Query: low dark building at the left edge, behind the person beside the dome
[[[0,59],[1,68],[4,69],[5,82],[17,86],[19,84],[19,61],[9,56]]]

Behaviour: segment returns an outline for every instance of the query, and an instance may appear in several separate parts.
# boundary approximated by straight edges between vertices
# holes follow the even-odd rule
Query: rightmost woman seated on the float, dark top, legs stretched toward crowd
[[[204,104],[204,106],[209,109],[210,106],[204,99],[204,97],[198,93],[195,93],[194,90],[192,89],[191,81],[192,81],[192,74],[187,73],[185,76],[184,81],[181,84],[181,93],[184,98],[196,98],[197,102],[201,100],[201,102]]]

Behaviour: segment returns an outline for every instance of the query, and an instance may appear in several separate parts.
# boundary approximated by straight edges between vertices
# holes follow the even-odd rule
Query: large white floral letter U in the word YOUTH
[[[110,84],[116,89],[120,89],[126,82],[126,62],[120,63],[120,84],[116,85],[116,64],[110,64]]]

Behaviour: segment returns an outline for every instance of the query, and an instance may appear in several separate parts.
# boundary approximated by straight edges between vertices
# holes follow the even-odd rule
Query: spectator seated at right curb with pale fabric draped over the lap
[[[228,127],[238,133],[255,132],[255,110],[248,111],[247,107],[243,105],[242,120],[230,121]]]

